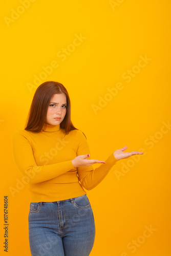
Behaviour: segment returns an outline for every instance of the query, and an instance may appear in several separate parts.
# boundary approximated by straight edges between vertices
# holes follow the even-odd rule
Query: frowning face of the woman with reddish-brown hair
[[[54,94],[51,97],[47,110],[47,123],[51,125],[60,124],[67,112],[67,97],[65,93]]]

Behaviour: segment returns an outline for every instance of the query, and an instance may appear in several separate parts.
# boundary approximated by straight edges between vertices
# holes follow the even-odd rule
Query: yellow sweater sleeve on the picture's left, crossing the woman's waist
[[[20,132],[13,135],[12,151],[16,166],[23,175],[29,177],[30,183],[50,180],[71,169],[75,169],[71,160],[38,166],[35,162],[29,140]]]

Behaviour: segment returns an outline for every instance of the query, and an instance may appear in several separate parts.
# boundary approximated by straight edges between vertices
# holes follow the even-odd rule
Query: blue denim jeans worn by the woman
[[[95,224],[87,195],[31,202],[28,220],[32,256],[88,256],[93,248]]]

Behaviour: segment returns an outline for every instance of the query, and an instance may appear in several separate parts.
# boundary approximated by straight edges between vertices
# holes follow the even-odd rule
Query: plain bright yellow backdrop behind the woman
[[[22,180],[11,140],[24,129],[34,92],[47,80],[67,88],[73,124],[86,134],[92,158],[105,161],[123,146],[127,152],[144,151],[137,162],[134,158],[117,162],[88,191],[96,224],[90,255],[171,255],[171,131],[169,125],[163,126],[171,122],[170,1],[32,0],[27,8],[21,8],[21,2],[1,1],[1,255],[7,255],[3,248],[5,195],[8,255],[31,255],[28,185],[14,196],[9,190]],[[76,35],[83,39],[76,40]],[[67,51],[63,58],[60,51]],[[140,56],[148,60],[139,68],[138,63],[145,63]],[[58,67],[43,74],[42,67],[53,61]],[[131,80],[125,78],[129,70]],[[34,78],[39,76],[46,79],[37,85]],[[110,96],[108,89],[116,88],[117,82],[122,89]],[[144,238],[145,227],[153,230],[146,232],[148,238]],[[127,245],[133,246],[135,240],[133,252]]]

